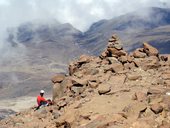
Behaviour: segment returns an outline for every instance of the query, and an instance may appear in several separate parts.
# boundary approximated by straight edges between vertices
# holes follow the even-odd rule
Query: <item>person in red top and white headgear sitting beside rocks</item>
[[[41,108],[42,106],[49,106],[52,105],[51,100],[46,100],[43,96],[44,96],[45,91],[41,90],[40,91],[40,95],[37,96],[37,104],[38,107],[37,109]]]

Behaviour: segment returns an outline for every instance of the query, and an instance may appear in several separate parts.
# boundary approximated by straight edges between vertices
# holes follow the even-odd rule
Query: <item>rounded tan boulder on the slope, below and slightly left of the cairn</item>
[[[108,84],[100,84],[98,87],[99,95],[106,94],[111,91],[111,87]]]

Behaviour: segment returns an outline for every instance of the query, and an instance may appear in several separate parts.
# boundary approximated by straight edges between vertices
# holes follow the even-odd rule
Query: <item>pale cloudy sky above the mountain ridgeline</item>
[[[56,19],[84,31],[100,19],[139,8],[169,7],[170,0],[0,0],[1,29],[23,22]]]

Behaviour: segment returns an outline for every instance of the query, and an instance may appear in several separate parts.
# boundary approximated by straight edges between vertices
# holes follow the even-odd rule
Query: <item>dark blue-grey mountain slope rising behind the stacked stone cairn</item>
[[[92,24],[83,34],[79,44],[98,55],[107,44],[112,33],[117,33],[126,50],[139,47],[143,41],[151,42],[161,53],[169,53],[170,9],[144,8],[110,20]]]

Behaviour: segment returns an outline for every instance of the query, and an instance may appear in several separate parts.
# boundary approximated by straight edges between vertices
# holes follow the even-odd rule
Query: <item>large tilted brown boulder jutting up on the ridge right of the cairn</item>
[[[158,50],[156,48],[154,48],[153,46],[151,46],[150,44],[144,42],[143,48],[144,48],[144,52],[148,56],[158,56],[158,53],[159,53]]]

